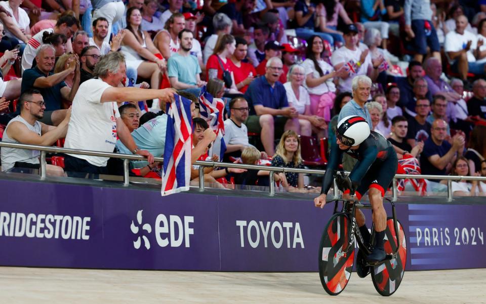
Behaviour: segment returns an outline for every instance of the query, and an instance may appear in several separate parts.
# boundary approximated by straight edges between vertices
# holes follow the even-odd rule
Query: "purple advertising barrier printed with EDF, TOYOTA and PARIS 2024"
[[[333,211],[304,200],[7,180],[0,192],[0,264],[9,266],[314,272]],[[486,206],[400,201],[396,211],[407,270],[486,267]]]

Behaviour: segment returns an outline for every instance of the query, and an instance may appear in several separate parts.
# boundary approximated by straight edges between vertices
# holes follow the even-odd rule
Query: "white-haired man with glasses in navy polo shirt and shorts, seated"
[[[275,130],[298,130],[298,112],[289,107],[284,85],[278,82],[282,72],[282,61],[278,57],[267,62],[265,75],[258,77],[248,87],[245,99],[250,104],[250,116],[245,124],[248,131],[260,133],[267,155],[274,154]],[[278,134],[278,133],[277,133]]]

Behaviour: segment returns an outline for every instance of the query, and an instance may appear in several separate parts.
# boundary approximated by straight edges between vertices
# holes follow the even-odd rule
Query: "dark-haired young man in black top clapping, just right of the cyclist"
[[[397,155],[403,157],[405,154],[411,154],[413,157],[417,157],[422,152],[424,143],[420,141],[412,148],[406,141],[408,129],[409,122],[407,119],[401,115],[395,116],[391,121],[391,135],[387,139],[393,144]]]

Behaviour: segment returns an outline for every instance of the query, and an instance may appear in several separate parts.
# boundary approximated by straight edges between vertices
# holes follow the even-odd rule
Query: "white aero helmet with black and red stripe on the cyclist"
[[[336,138],[344,145],[356,146],[370,136],[370,125],[360,116],[346,116],[338,123]]]

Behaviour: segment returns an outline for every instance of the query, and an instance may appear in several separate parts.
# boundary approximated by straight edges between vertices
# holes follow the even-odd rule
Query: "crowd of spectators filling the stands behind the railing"
[[[484,173],[484,1],[9,0],[0,2],[0,37],[7,142],[65,138],[65,147],[140,154],[147,162],[131,166],[145,176],[159,166],[152,157],[163,154],[175,93],[192,100],[194,159],[205,158],[214,138],[198,117],[204,87],[225,104],[225,161],[302,168],[301,136],[334,144],[337,122],[358,115],[423,174]],[[2,148],[2,170],[38,168],[37,158]],[[346,170],[353,164],[343,159]],[[64,156],[75,176],[118,167]],[[268,175],[209,171],[216,183],[263,185]],[[305,190],[302,175],[275,180]],[[463,181],[455,189],[486,192]]]

